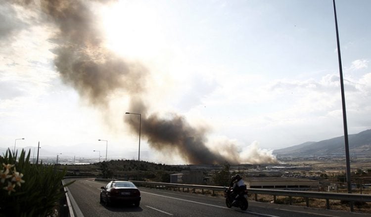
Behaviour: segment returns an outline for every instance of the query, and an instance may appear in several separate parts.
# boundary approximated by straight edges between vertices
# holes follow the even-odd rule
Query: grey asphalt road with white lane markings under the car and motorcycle
[[[65,179],[69,182],[75,179]],[[305,207],[249,201],[247,211],[227,208],[225,199],[177,191],[139,187],[139,207],[99,203],[100,187],[105,183],[93,178],[77,178],[68,186],[76,217],[368,217],[370,215],[317,210]]]

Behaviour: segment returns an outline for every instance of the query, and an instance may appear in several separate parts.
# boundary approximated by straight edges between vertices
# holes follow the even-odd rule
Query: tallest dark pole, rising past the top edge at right
[[[343,67],[341,65],[339,31],[338,31],[338,28],[337,28],[337,17],[336,17],[335,0],[332,0],[332,3],[333,3],[333,11],[334,11],[334,16],[335,16],[337,56],[338,56],[338,60],[339,60],[339,73],[340,73],[341,102],[342,102],[342,106],[343,106],[343,124],[344,124],[344,142],[345,142],[345,160],[346,160],[347,189],[348,189],[348,193],[352,193],[352,185],[351,185],[351,181],[350,181],[349,140],[348,140],[347,115],[346,115],[346,109],[345,109]]]

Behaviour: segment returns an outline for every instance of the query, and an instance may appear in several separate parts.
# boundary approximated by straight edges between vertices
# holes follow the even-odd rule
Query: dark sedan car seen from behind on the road
[[[128,203],[138,207],[140,203],[140,191],[131,181],[110,181],[106,186],[100,187],[100,203],[110,205],[112,203]]]

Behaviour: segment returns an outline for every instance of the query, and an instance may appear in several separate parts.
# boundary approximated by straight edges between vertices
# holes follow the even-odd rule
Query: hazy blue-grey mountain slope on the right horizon
[[[349,134],[348,140],[349,153],[351,156],[371,156],[371,130],[365,130],[357,134]],[[277,157],[345,156],[344,136],[326,139],[319,142],[305,142],[300,145],[274,150],[273,154]]]

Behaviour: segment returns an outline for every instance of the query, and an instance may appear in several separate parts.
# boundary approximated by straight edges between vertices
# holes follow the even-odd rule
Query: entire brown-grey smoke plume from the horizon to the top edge
[[[47,20],[58,30],[53,38],[57,43],[53,52],[62,81],[103,113],[111,95],[126,93],[131,98],[128,111],[141,114],[141,135],[156,150],[172,150],[191,164],[239,163],[238,152],[222,155],[206,145],[208,129],[192,127],[185,117],[177,114],[170,119],[161,119],[157,114],[148,113],[143,96],[148,91],[149,70],[104,47],[89,3],[83,0],[41,0],[41,9]],[[124,121],[138,133],[138,117],[127,115]]]

